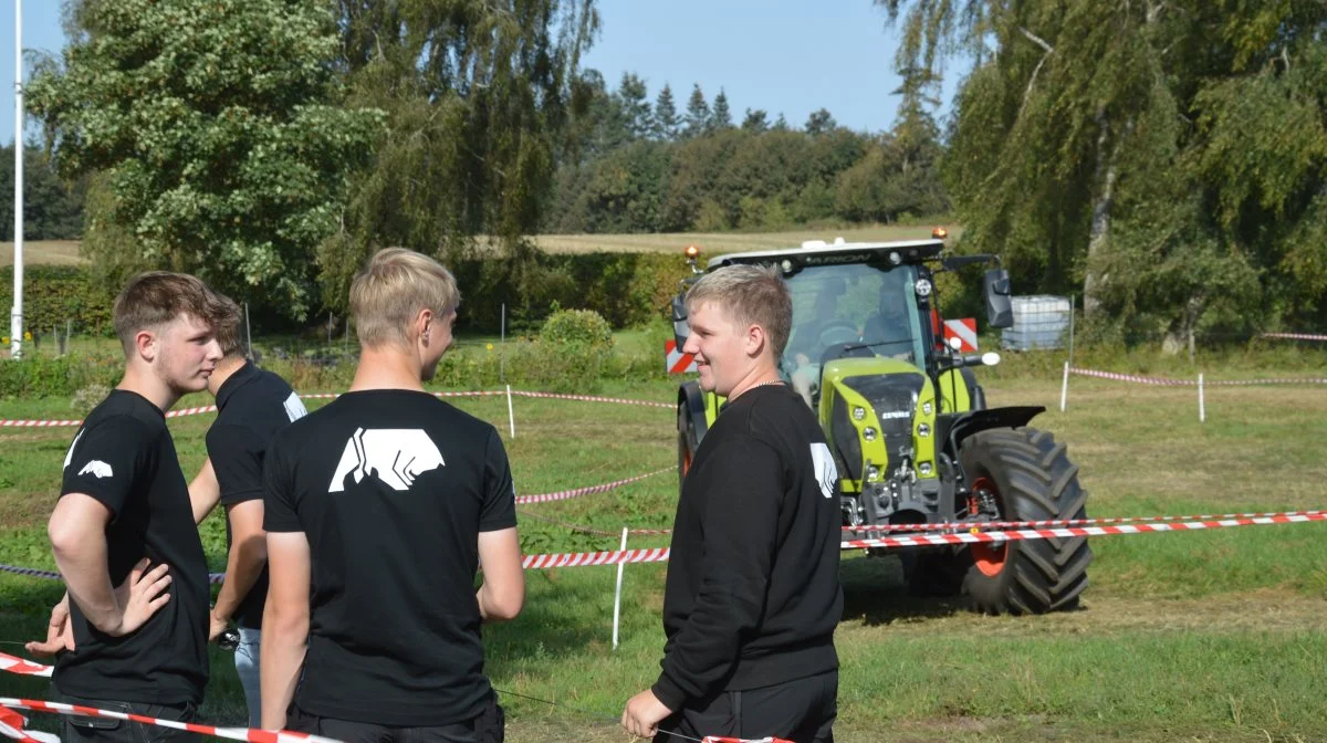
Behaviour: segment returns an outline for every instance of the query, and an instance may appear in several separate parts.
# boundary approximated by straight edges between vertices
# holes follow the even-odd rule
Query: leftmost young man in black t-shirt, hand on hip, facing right
[[[207,685],[207,563],[165,411],[220,360],[215,296],[192,276],[137,276],[115,299],[125,377],[69,446],[48,533],[69,592],[45,643],[61,702],[191,720]],[[62,632],[68,629],[68,633]],[[182,732],[65,718],[65,743]]]

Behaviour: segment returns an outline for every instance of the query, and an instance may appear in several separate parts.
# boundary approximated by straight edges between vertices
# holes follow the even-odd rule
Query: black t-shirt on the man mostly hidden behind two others
[[[307,413],[285,379],[245,362],[216,390],[216,421],[207,430],[207,456],[222,486],[222,506],[263,498],[263,455],[277,431]],[[231,521],[226,520],[226,548]],[[235,624],[263,628],[267,568],[235,609]]]

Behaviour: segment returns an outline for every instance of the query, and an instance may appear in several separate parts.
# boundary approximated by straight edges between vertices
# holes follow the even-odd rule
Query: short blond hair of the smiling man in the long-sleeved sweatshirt
[[[739,325],[759,325],[774,360],[783,358],[792,330],[792,295],[775,265],[725,265],[706,273],[686,293],[686,309],[722,306]]]

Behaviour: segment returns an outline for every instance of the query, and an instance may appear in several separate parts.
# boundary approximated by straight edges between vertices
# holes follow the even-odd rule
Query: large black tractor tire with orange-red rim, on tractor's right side
[[[1087,491],[1079,487],[1078,467],[1064,444],[1046,431],[981,431],[963,442],[959,460],[973,496],[994,496],[1002,520],[1087,517]],[[962,590],[977,609],[991,614],[1076,608],[1092,563],[1087,537],[973,544],[963,553],[971,567]]]

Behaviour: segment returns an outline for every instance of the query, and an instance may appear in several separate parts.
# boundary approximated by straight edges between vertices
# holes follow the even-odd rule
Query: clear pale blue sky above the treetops
[[[13,1],[0,4],[0,81],[12,90]],[[23,45],[64,46],[58,0],[27,0]],[[624,72],[645,78],[650,100],[665,82],[678,109],[698,82],[713,101],[722,88],[738,122],[746,109],[782,111],[802,126],[820,107],[840,125],[878,131],[894,119],[897,33],[871,0],[600,0],[601,32],[585,66],[616,88]],[[953,97],[951,69],[942,98]],[[941,111],[943,113],[943,111]],[[31,137],[32,119],[25,123]],[[13,139],[13,96],[0,105],[0,142]]]

